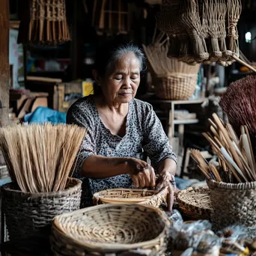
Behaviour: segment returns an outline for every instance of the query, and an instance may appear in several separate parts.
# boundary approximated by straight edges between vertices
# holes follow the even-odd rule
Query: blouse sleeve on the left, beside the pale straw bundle
[[[86,127],[87,133],[84,140],[82,141],[79,152],[77,153],[75,162],[74,162],[74,177],[81,177],[80,172],[82,171],[82,165],[85,162],[85,159],[88,156],[96,154],[96,142],[95,142],[95,129],[93,121],[89,115],[86,115],[86,112],[82,112],[78,107],[69,109],[67,112],[66,118],[67,124],[76,124],[79,127]]]

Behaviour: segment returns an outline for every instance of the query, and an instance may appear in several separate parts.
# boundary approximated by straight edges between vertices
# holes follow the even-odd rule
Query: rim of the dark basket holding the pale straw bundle
[[[57,191],[57,192],[38,192],[38,193],[30,193],[30,192],[22,192],[21,190],[16,189],[10,189],[10,186],[13,185],[13,182],[4,184],[1,186],[2,192],[7,194],[15,194],[19,195],[19,197],[24,198],[42,198],[44,196],[46,197],[54,197],[54,196],[63,196],[63,195],[70,195],[70,192],[76,191],[79,187],[82,186],[82,181],[73,177],[68,177],[67,180],[69,182],[74,183],[73,186],[68,187],[67,189]]]

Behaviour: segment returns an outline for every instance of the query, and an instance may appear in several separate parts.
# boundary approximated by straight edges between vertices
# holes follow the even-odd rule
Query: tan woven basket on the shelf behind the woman
[[[156,97],[165,100],[188,100],[195,91],[197,81],[197,73],[173,73],[166,77],[152,77]]]

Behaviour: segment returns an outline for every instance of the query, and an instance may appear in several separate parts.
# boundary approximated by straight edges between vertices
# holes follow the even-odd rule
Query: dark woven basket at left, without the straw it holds
[[[25,193],[13,183],[2,186],[2,210],[10,242],[21,251],[47,252],[52,219],[78,210],[82,182],[69,178],[67,189],[60,192]]]

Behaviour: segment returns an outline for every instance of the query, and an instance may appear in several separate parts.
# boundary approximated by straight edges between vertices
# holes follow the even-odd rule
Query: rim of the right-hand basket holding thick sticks
[[[256,189],[256,181],[246,182],[246,183],[225,183],[225,182],[217,182],[215,180],[207,180],[207,184],[208,186],[210,185],[219,189],[230,189],[230,190]]]

